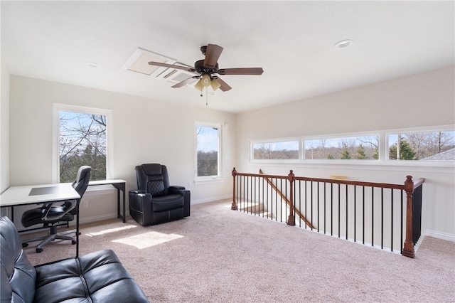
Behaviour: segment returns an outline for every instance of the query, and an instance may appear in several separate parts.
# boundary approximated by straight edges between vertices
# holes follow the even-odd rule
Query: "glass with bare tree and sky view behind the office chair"
[[[106,179],[105,115],[59,111],[60,182],[74,181],[77,169],[92,166],[91,180]]]

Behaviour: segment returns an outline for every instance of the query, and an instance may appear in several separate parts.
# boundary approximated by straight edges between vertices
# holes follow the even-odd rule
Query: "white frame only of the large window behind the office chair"
[[[107,126],[106,126],[106,180],[112,179],[113,175],[113,143],[112,143],[112,134],[113,134],[113,123],[112,123],[112,110],[104,110],[100,108],[93,107],[82,107],[77,105],[66,105],[60,103],[53,104],[53,174],[52,179],[53,183],[60,183],[60,111],[65,112],[80,112],[84,114],[92,115],[104,115],[106,116]]]

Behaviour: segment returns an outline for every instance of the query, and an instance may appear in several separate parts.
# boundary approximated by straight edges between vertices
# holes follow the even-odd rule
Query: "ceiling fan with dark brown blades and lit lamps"
[[[165,68],[176,68],[178,70],[186,70],[194,73],[195,75],[191,78],[183,80],[172,87],[182,87],[186,84],[192,83],[194,79],[199,79],[198,83],[194,86],[196,89],[202,92],[204,87],[212,87],[213,90],[223,90],[223,92],[230,90],[232,87],[221,80],[218,75],[262,75],[264,70],[262,68],[218,68],[218,58],[220,58],[223,48],[216,44],[208,44],[207,46],[201,46],[200,51],[205,55],[203,60],[198,60],[194,63],[194,68],[183,65],[172,65],[160,62],[150,61],[150,65],[161,66]],[[218,74],[218,75],[214,75]]]

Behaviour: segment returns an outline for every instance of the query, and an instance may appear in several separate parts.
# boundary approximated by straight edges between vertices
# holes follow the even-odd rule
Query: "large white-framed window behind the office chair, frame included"
[[[90,180],[110,179],[108,123],[110,111],[55,105],[55,181],[74,181],[82,165],[92,167]]]

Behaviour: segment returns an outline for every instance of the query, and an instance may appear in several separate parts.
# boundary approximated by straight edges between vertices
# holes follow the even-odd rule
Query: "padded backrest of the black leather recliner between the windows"
[[[151,196],[168,194],[169,177],[165,165],[142,164],[136,166],[137,188],[150,193]]]

